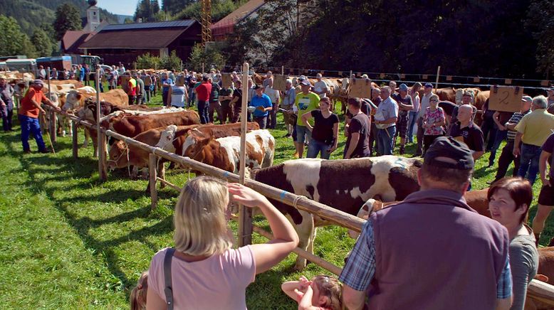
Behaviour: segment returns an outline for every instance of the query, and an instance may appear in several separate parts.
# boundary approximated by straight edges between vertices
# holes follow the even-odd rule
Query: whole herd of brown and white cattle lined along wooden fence
[[[62,81],[53,82],[53,102],[64,112],[96,122],[96,92],[92,87],[83,87],[77,81],[63,81],[63,84],[57,84]],[[337,87],[344,85],[344,81],[335,82]],[[476,98],[481,98],[476,100],[476,104],[482,105],[481,100],[486,100],[488,92],[476,90],[476,93]],[[456,90],[439,89],[437,94],[444,96],[441,97],[443,100],[456,101]],[[100,100],[100,124],[103,128],[238,173],[240,124],[202,125],[199,115],[192,110],[127,106],[127,95],[122,90],[102,93]],[[88,132],[86,136],[95,137],[92,129],[85,129],[85,132]],[[96,140],[92,140],[97,154]],[[270,132],[259,129],[254,122],[248,124],[246,166],[251,178],[360,218],[367,218],[371,212],[383,208],[384,204],[380,201],[402,201],[410,193],[419,190],[417,170],[422,166],[420,159],[401,156],[332,161],[296,159],[273,166],[275,146],[275,139]],[[136,176],[139,169],[148,166],[149,153],[125,141],[110,139],[108,153],[110,169],[132,167],[132,175]],[[164,178],[163,163],[162,159],[158,167],[161,178]],[[466,201],[481,215],[490,217],[486,190],[466,193]],[[313,253],[315,228],[330,223],[290,205],[278,201],[272,203],[296,226],[300,237],[299,247]],[[351,232],[351,235],[355,237],[356,234]],[[539,273],[548,277],[550,284],[554,284],[554,247],[541,248],[539,253]],[[295,268],[303,269],[305,264],[306,260],[298,257]]]

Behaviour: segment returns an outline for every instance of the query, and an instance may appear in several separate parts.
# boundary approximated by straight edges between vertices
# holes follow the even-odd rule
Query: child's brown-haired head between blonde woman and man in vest
[[[325,275],[315,276],[312,279],[312,304],[323,308],[343,309],[343,288],[338,279]]]

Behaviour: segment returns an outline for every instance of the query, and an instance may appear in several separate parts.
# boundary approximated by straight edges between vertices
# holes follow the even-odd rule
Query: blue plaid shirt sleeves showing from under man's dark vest
[[[367,220],[338,279],[356,291],[365,291],[375,276],[375,267],[373,224],[370,220]],[[512,274],[510,259],[507,257],[500,279],[496,283],[496,298],[506,299],[511,294]]]

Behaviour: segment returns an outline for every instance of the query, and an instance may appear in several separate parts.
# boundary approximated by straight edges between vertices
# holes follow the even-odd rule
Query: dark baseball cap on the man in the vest
[[[424,164],[445,169],[474,169],[475,161],[464,142],[452,137],[438,137],[427,149]]]

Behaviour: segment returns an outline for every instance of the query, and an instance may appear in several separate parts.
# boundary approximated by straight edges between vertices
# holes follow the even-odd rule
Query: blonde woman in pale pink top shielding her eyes
[[[227,221],[229,202],[258,207],[273,240],[233,249]],[[174,213],[174,257],[170,264],[173,309],[246,309],[246,287],[256,274],[281,262],[297,245],[291,223],[256,191],[236,183],[200,176],[181,191]],[[147,309],[167,309],[164,258],[152,258]]]

